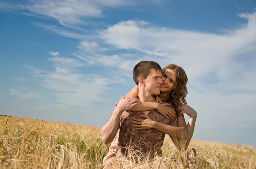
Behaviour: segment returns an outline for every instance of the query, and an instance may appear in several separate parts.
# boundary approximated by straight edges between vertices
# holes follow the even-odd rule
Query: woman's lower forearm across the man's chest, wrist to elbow
[[[154,121],[153,128],[157,129],[161,132],[164,132],[176,139],[185,139],[186,138],[186,128],[185,127],[175,127],[175,126],[170,126],[168,124],[163,124],[163,123]]]

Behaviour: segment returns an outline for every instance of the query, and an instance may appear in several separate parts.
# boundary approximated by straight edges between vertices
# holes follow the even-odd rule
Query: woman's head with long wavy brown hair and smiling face
[[[163,87],[161,87],[161,93],[170,93],[169,100],[175,109],[178,109],[182,104],[186,104],[186,95],[188,93],[186,73],[183,68],[174,64],[167,65],[162,72]]]

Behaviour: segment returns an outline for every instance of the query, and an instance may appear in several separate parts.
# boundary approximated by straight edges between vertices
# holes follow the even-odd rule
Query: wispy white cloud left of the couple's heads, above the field
[[[95,101],[105,101],[102,96],[109,89],[109,85],[125,81],[116,76],[102,77],[82,73],[78,68],[83,64],[77,59],[54,56],[48,60],[54,63],[54,71],[27,65],[25,68],[43,89],[52,91],[58,104],[68,107],[89,107]]]

